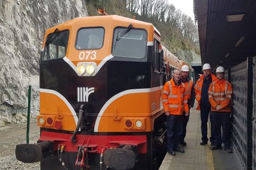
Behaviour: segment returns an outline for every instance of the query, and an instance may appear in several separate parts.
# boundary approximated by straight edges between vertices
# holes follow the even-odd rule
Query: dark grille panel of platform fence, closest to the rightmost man
[[[233,129],[231,142],[242,167],[247,164],[247,62],[231,68],[233,85]]]

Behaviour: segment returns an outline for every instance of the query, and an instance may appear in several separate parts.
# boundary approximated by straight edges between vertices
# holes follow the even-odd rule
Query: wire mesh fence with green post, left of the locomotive
[[[28,86],[0,88],[0,162],[13,157],[15,146],[27,142]],[[39,128],[36,120],[39,114],[39,87],[32,86],[29,112],[29,143],[36,143]]]

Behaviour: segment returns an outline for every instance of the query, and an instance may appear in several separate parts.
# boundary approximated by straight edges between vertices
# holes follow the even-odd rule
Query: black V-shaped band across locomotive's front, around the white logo
[[[150,88],[150,63],[146,60],[146,57],[143,60],[114,57],[94,77],[79,77],[62,58],[41,61],[40,88],[59,92],[76,113],[84,104],[85,116],[89,116],[86,120],[91,126],[111,97],[125,90]],[[94,88],[87,102],[78,100],[81,95],[78,88]],[[57,106],[53,103],[53,107]]]

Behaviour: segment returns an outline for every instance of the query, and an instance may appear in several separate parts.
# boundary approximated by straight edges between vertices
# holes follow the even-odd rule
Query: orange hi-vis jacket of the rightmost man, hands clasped
[[[208,91],[209,101],[211,103],[211,111],[215,112],[231,112],[231,96],[233,88],[230,82],[225,79],[217,79],[211,83]],[[217,111],[215,108],[220,105],[222,108]]]

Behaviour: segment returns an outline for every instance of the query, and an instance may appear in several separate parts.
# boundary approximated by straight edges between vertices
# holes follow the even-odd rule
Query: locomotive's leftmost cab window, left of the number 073
[[[44,50],[44,60],[63,58],[68,47],[69,30],[54,31],[47,36]]]

